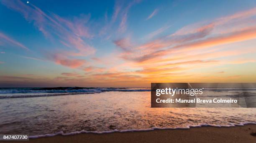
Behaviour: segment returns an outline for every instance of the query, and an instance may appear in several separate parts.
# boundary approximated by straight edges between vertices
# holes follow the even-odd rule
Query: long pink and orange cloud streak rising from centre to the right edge
[[[242,13],[247,14],[247,12],[242,12]],[[229,16],[229,17],[232,17],[232,16]],[[236,25],[234,26],[236,27]],[[255,35],[256,29],[255,27],[251,27],[251,26],[247,27],[246,29],[241,29],[240,31],[224,33],[224,34],[219,33],[218,35],[210,35],[212,30],[214,30],[214,28],[218,29],[221,27],[216,27],[215,24],[210,23],[207,25],[203,25],[201,27],[197,27],[195,28],[195,30],[191,29],[185,33],[183,32],[183,34],[181,34],[181,30],[178,30],[179,32],[175,32],[175,34],[173,35],[169,35],[167,37],[161,37],[160,39],[147,42],[146,44],[132,47],[132,50],[134,51],[133,54],[123,53],[122,56],[125,59],[129,59],[129,57],[131,56],[132,56],[131,59],[141,59],[143,57],[146,58],[148,56],[150,57],[154,55],[159,56],[159,54],[164,54],[164,53],[165,55],[171,54],[175,51],[180,51],[180,48],[192,50],[192,49],[217,46],[221,44],[229,44],[233,42],[241,42],[244,40],[256,38],[256,35]],[[117,46],[120,47],[120,44],[117,44]]]

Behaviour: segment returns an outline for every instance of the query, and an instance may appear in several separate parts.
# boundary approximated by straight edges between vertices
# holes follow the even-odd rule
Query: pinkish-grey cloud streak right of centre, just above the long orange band
[[[209,25],[209,26],[198,29],[194,33],[189,33],[187,35],[172,35],[172,36],[161,37],[159,39],[149,41],[145,44],[129,47],[129,49],[133,51],[133,53],[125,51],[124,53],[120,54],[120,56],[123,57],[124,59],[132,59],[134,61],[136,60],[143,61],[145,59],[150,59],[151,57],[167,54],[165,50],[162,50],[166,47],[171,48],[174,45],[179,45],[189,41],[202,39],[203,37],[206,37],[207,35],[209,35],[211,30],[212,30],[212,26]],[[154,34],[157,34],[157,33],[154,33]],[[127,39],[127,38],[124,38],[124,39]],[[114,41],[114,43],[121,49],[123,49],[122,46],[124,44],[132,45],[131,40],[130,41],[123,40],[123,42],[122,41],[118,41],[118,42],[121,42],[121,43],[117,43],[116,41]],[[171,52],[171,50],[168,50],[168,52]]]

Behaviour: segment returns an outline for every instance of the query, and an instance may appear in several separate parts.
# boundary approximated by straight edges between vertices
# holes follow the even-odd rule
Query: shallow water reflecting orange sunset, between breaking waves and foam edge
[[[174,128],[255,122],[255,108],[151,108],[149,91],[1,99],[0,133]]]

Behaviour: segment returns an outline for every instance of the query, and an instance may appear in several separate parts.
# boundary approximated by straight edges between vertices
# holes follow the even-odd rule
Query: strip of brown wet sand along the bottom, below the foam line
[[[253,134],[254,133],[254,134]],[[31,143],[256,143],[256,125],[200,127],[127,133],[54,136],[30,139]],[[6,142],[5,142],[6,143]],[[15,141],[17,143],[17,141]]]

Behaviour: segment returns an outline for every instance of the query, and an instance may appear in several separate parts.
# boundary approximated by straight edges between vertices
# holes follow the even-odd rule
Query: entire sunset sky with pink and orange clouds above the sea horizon
[[[0,87],[256,82],[255,0],[0,0]]]

